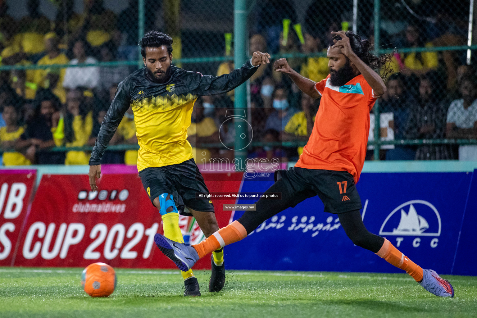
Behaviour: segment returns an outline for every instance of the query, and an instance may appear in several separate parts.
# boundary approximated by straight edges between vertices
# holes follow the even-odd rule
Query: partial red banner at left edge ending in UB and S
[[[36,170],[0,171],[0,266],[11,266],[28,213]]]

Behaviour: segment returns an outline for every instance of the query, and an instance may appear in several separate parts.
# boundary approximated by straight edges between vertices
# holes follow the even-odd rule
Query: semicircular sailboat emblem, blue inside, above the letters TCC
[[[440,236],[441,216],[424,200],[411,200],[396,207],[384,220],[379,235]]]

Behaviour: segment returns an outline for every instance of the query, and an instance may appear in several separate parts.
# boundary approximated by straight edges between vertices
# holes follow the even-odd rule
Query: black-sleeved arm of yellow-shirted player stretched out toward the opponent
[[[270,54],[256,51],[252,58],[239,69],[233,70],[229,74],[220,76],[202,75],[197,72],[190,72],[194,77],[193,82],[197,82],[197,87],[192,93],[197,95],[214,95],[229,92],[247,81],[250,76],[257,71],[260,64],[270,63]],[[200,76],[199,78],[195,78]]]

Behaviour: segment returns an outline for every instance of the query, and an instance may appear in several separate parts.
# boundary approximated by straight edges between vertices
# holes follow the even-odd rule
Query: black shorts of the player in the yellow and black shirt
[[[171,164],[158,168],[145,168],[139,172],[151,203],[163,193],[172,195],[181,215],[193,216],[184,212],[187,206],[196,211],[214,212],[210,199],[197,199],[196,193],[208,194],[207,186],[194,159],[180,164]]]

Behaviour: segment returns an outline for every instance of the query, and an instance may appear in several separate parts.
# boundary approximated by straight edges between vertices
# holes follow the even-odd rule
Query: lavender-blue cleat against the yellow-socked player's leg
[[[161,252],[169,257],[176,266],[184,272],[187,272],[199,260],[199,255],[192,246],[175,242],[160,234],[154,236],[154,242],[156,242]]]

